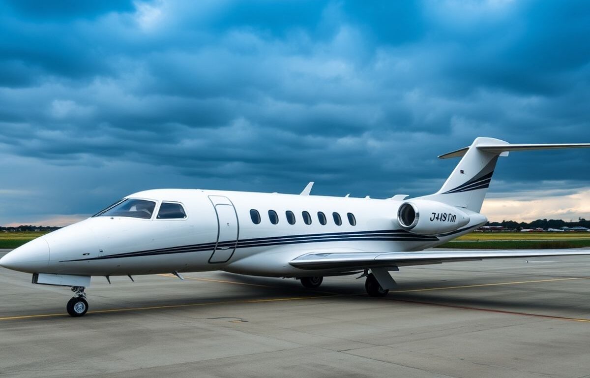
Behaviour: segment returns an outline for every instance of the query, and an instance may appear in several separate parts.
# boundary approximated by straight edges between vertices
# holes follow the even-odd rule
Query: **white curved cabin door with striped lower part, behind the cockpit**
[[[209,200],[211,200],[217,214],[217,243],[209,262],[227,262],[234,254],[235,246],[238,243],[238,233],[240,232],[238,216],[230,198],[222,195],[209,195]]]

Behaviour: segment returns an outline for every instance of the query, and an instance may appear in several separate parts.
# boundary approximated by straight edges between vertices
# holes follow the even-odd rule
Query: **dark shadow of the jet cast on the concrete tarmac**
[[[277,279],[256,276],[235,275],[220,272],[216,279],[234,282],[240,285],[240,289],[227,290],[226,294],[216,295],[215,299],[199,297],[198,294],[178,292],[174,298],[168,298],[166,304],[184,305],[210,301],[212,305],[227,306],[236,302],[264,301],[273,298],[309,298],[330,297],[331,300],[346,301],[359,305],[366,305],[367,301],[391,301],[415,303],[416,305],[440,305],[444,307],[489,309],[491,311],[506,312],[534,312],[543,316],[569,316],[589,317],[590,303],[585,297],[581,298],[581,292],[568,292],[568,286],[559,286],[559,283],[551,282],[553,286],[546,286],[545,282],[531,282],[521,285],[499,285],[483,287],[461,286],[473,285],[474,282],[466,280],[441,280],[424,279],[424,281],[405,284],[398,280],[399,288],[392,289],[385,298],[369,298],[364,291],[364,280],[350,279],[350,282],[338,282],[330,284],[329,278],[318,289],[303,288],[299,281],[293,279]],[[516,281],[516,280],[514,280]],[[590,281],[590,279],[588,280]],[[565,281],[568,282],[568,281]],[[586,282],[585,280],[583,282]],[[477,282],[479,284],[480,281]],[[477,285],[476,284],[476,285]],[[563,282],[562,282],[563,284]],[[590,282],[589,282],[590,284]],[[568,284],[564,284],[568,285]],[[458,286],[458,287],[457,287]],[[432,291],[396,292],[414,289],[452,288],[450,290],[436,289]],[[516,290],[515,290],[516,288]],[[484,290],[484,292],[482,291]],[[495,292],[494,292],[495,291]],[[188,294],[188,295],[187,295]],[[485,295],[485,297],[483,296]],[[189,300],[187,300],[189,299]],[[277,299],[278,300],[278,299]],[[135,302],[135,301],[134,301]],[[145,298],[140,305],[158,305]],[[172,303],[171,303],[172,302]],[[136,302],[137,304],[137,302]]]

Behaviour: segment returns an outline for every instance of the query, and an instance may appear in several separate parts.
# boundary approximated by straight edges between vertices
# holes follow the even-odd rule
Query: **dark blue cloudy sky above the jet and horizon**
[[[477,136],[590,142],[588,1],[0,2],[0,224],[150,188],[434,193]],[[590,151],[501,158],[490,220],[590,218]]]

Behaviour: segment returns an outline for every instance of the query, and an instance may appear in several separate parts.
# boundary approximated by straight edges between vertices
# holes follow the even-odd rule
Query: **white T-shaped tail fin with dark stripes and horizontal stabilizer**
[[[439,157],[441,159],[463,158],[440,190],[424,198],[428,197],[431,200],[479,213],[498,157],[508,156],[510,151],[588,147],[590,144],[509,144],[500,139],[476,138],[470,146]]]

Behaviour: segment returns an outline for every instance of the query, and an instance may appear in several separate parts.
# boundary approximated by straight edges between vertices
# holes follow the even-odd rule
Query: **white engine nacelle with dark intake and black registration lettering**
[[[457,207],[429,200],[404,202],[399,206],[398,223],[421,235],[451,232],[469,223],[469,216]]]

